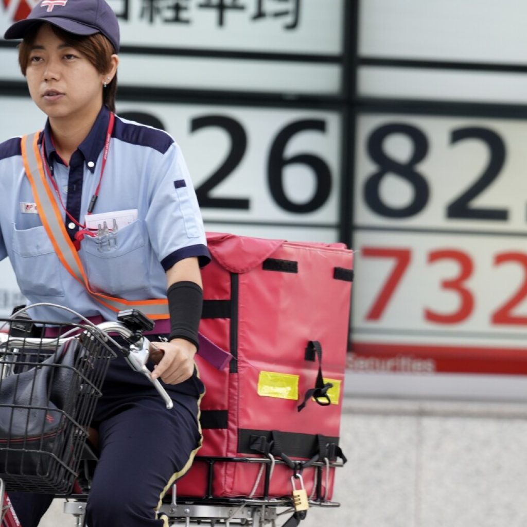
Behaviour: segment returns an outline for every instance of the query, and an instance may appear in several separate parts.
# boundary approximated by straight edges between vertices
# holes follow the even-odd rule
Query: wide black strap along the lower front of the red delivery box
[[[286,453],[289,457],[310,459],[319,453],[320,444],[338,445],[338,439],[338,437],[299,432],[240,428],[238,430],[238,452],[240,454],[254,454],[255,452],[265,454],[268,451],[273,455]]]

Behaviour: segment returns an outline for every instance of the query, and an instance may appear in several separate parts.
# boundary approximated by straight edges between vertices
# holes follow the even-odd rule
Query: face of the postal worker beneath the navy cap
[[[106,76],[57,37],[49,24],[40,27],[29,55],[26,79],[33,101],[50,120],[82,120],[97,115]]]

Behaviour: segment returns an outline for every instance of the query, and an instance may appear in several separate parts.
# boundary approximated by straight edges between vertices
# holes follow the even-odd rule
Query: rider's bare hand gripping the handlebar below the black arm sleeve
[[[167,384],[179,384],[189,379],[194,373],[196,351],[196,346],[183,338],[150,343],[150,358],[158,363],[152,379],[161,377]]]

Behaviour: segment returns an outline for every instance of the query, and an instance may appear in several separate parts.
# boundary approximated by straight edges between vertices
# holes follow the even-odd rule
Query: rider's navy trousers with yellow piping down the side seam
[[[115,391],[97,404],[100,461],[86,506],[89,527],[167,525],[155,510],[200,446],[198,397],[171,394],[169,411],[157,392],[136,388],[124,398]],[[18,492],[9,497],[23,527],[37,527],[53,500]]]

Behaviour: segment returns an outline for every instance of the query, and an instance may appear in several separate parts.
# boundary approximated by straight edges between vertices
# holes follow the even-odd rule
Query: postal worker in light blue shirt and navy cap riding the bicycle
[[[28,162],[28,140],[0,144],[0,258],[9,256],[31,303],[53,302],[96,321],[114,320],[121,301],[153,306],[154,333],[168,337],[152,377],[166,384],[171,411],[122,359],[109,368],[94,419],[100,462],[87,523],[167,525],[155,509],[201,444],[203,386],[193,358],[199,267],[209,253],[188,170],[168,134],[113,113],[119,25],[104,0],[41,0],[5,38],[23,39],[22,73],[48,119],[35,136],[38,170]],[[38,181],[51,189],[47,208],[60,211],[55,227]],[[77,264],[85,279],[72,272]],[[52,307],[32,316],[77,321]],[[52,500],[10,496],[24,527],[36,527]]]

